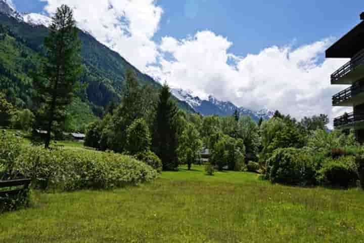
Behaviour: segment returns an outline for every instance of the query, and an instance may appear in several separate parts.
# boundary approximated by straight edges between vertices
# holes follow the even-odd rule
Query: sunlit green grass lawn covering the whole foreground
[[[151,184],[45,194],[0,215],[2,242],[364,242],[364,193],[203,167]]]

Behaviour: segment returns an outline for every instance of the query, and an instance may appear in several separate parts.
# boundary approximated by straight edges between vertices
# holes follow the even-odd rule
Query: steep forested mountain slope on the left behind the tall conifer
[[[43,42],[50,21],[49,17],[40,14],[20,14],[6,0],[0,0],[0,90],[19,108],[32,108],[29,73],[39,65],[39,56],[45,54]],[[111,101],[119,102],[127,69],[132,69],[140,83],[152,86],[155,92],[161,88],[151,76],[135,68],[88,32],[80,30],[79,38],[84,67],[81,83],[86,89],[72,106],[75,117],[84,112],[88,118],[102,116]],[[176,101],[180,108],[193,111],[187,103]],[[89,120],[80,119],[76,124]]]

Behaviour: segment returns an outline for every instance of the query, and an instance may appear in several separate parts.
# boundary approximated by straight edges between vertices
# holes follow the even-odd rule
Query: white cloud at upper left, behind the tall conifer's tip
[[[158,30],[163,10],[154,0],[42,1],[48,3],[44,9],[51,15],[62,4],[70,6],[80,28],[142,71],[157,60],[157,45],[152,37]]]

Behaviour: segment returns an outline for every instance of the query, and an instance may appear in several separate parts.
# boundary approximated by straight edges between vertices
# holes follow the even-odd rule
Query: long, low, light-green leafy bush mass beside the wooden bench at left
[[[129,156],[41,147],[24,150],[16,159],[15,168],[41,189],[113,188],[157,177],[153,168]]]

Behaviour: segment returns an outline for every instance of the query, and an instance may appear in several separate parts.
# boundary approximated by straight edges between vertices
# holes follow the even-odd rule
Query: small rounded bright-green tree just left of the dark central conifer
[[[151,136],[148,125],[143,118],[133,121],[126,129],[126,150],[135,155],[150,149]]]

